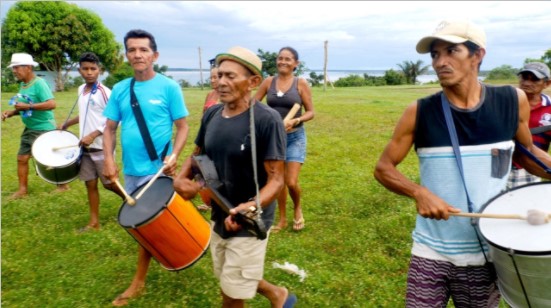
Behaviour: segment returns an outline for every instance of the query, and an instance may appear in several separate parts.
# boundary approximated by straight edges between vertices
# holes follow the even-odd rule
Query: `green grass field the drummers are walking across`
[[[316,117],[306,124],[308,151],[300,177],[306,228],[273,234],[265,265],[265,278],[296,293],[297,307],[404,306],[415,206],[385,190],[372,173],[406,105],[438,89],[313,89]],[[206,93],[184,91],[191,129],[180,163],[193,148]],[[13,94],[2,93],[3,109]],[[74,92],[56,93],[58,123],[75,99]],[[53,192],[55,186],[35,174],[32,161],[30,196],[8,200],[17,190],[22,129],[18,117],[2,123],[2,306],[108,307],[135,271],[137,244],[117,221],[122,202],[101,188],[102,229],[78,234],[89,218],[84,184],[76,180],[69,191]],[[409,155],[400,170],[417,181],[415,155]],[[300,282],[298,276],[272,268],[273,262],[296,264],[308,276]],[[220,304],[207,253],[179,272],[154,262],[146,293],[130,307]],[[249,306],[269,303],[257,296]]]

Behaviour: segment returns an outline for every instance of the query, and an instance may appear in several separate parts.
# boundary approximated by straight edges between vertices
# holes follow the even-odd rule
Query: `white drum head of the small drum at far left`
[[[78,137],[75,134],[64,130],[52,130],[40,135],[33,143],[32,155],[40,164],[56,168],[64,167],[75,162],[80,156]],[[75,145],[74,147],[54,148]]]

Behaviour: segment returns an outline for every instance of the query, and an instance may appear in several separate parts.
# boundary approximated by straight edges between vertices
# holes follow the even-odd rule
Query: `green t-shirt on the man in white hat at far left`
[[[22,82],[19,86],[19,93],[29,96],[32,103],[43,103],[54,98],[52,90],[46,81],[40,77],[35,77],[29,83]],[[18,101],[27,104],[24,100]],[[19,115],[21,116],[22,113],[22,111],[19,112]],[[53,110],[33,110],[32,116],[21,116],[21,120],[29,129],[52,130],[56,128]]]

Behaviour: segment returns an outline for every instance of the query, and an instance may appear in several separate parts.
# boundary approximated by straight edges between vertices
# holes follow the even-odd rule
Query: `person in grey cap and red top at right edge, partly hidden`
[[[551,85],[549,67],[542,62],[527,63],[518,73],[518,77],[519,88],[526,93],[530,104],[528,126],[532,132],[532,141],[538,148],[548,152],[551,143],[551,98],[543,94],[543,90]],[[513,162],[507,188],[540,181],[540,177],[526,172],[519,164]]]

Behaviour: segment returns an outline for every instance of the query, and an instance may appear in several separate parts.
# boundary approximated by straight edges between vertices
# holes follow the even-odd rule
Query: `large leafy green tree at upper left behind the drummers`
[[[111,71],[123,60],[121,49],[97,14],[63,1],[18,2],[2,23],[2,63],[15,52],[33,55],[42,69],[57,73],[56,91],[83,52],[97,54]]]

